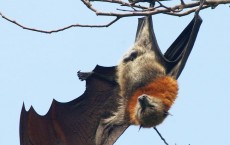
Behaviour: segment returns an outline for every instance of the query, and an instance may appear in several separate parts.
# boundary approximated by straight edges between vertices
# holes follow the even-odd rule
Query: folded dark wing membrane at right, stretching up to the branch
[[[195,15],[164,54],[168,74],[174,76],[176,79],[180,76],[192,51],[201,23],[201,17]]]

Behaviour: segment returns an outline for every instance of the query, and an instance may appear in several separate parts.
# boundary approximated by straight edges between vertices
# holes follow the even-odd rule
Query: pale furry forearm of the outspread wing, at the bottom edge
[[[111,145],[123,134],[128,125],[109,125],[100,121],[96,131],[95,145]]]

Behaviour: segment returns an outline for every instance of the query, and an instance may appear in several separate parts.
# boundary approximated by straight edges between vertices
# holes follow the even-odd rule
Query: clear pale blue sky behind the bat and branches
[[[1,0],[0,12],[46,30],[111,20],[95,16],[78,0]],[[170,145],[230,144],[230,8],[223,5],[200,15],[203,24],[179,78],[173,116],[158,126]],[[163,51],[192,17],[153,17]],[[53,98],[66,102],[84,92],[78,70],[116,65],[134,42],[137,18],[121,19],[108,28],[72,28],[51,35],[23,30],[0,18],[0,145],[19,145],[23,102],[27,109],[33,105],[45,114]],[[138,129],[128,128],[115,145],[164,145],[153,129]]]

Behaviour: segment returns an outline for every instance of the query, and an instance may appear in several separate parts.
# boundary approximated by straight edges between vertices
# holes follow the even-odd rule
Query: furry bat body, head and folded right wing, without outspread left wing
[[[167,117],[178,94],[176,79],[192,50],[201,22],[196,15],[163,55],[151,17],[141,19],[134,46],[117,66],[120,107],[106,120],[108,123],[155,127]]]

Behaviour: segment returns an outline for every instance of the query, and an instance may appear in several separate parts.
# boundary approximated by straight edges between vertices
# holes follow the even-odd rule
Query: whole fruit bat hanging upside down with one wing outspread
[[[175,100],[176,79],[201,23],[196,14],[163,55],[151,16],[140,18],[134,46],[118,66],[97,65],[92,72],[78,72],[79,78],[86,81],[80,97],[66,103],[53,100],[44,116],[33,107],[26,111],[23,105],[20,144],[112,145],[129,125],[160,124]]]

